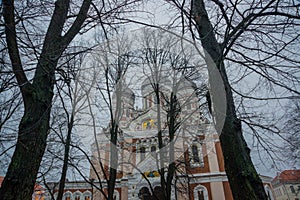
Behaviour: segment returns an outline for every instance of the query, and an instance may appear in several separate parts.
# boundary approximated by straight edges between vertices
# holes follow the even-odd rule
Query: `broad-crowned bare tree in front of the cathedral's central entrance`
[[[194,107],[199,103],[196,95],[197,86],[190,80],[196,77],[195,69],[199,60],[193,57],[191,49],[185,45],[181,46],[180,38],[172,37],[164,31],[144,29],[134,38],[137,41],[137,44],[133,45],[135,50],[126,55],[135,59],[132,59],[132,66],[129,68],[131,72],[128,72],[125,77],[131,77],[130,83],[134,90],[142,88],[143,108],[141,110],[131,108],[133,118],[127,119],[126,122],[130,124],[135,120],[142,120],[143,117],[145,119],[150,117],[150,121],[143,122],[143,128],[145,132],[157,131],[155,138],[160,150],[156,152],[153,149],[151,153],[145,152],[142,147],[137,147],[135,150],[135,154],[142,154],[142,156],[140,162],[137,160],[137,163],[133,164],[134,168],[148,182],[153,193],[152,197],[146,197],[149,194],[146,191],[140,191],[139,197],[172,199],[175,195],[172,191],[176,187],[174,185],[176,171],[182,168],[179,165],[184,164],[184,161],[177,160],[178,156],[184,157],[184,149],[176,146],[178,143],[183,143],[181,136],[178,135],[182,133],[187,121],[191,125],[191,121],[194,120],[192,115],[194,117],[201,115],[199,107]],[[194,62],[195,60],[197,61]],[[193,109],[186,109],[192,105]],[[151,115],[152,111],[155,116]],[[148,116],[149,113],[151,116]],[[146,138],[147,135],[144,139]],[[147,162],[147,158],[151,156],[156,158],[157,171],[155,173],[159,173],[161,190],[151,185],[150,179],[153,174],[147,175],[145,174],[147,172],[139,168],[139,163],[143,166],[143,159]]]

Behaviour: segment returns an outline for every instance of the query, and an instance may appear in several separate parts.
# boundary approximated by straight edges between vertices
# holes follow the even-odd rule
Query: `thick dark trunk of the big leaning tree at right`
[[[220,98],[217,94],[218,84],[214,81],[214,69],[211,62],[217,67],[222,77],[226,95],[226,117],[221,131],[220,141],[224,155],[225,169],[230,183],[234,199],[240,200],[264,200],[267,196],[264,192],[262,181],[251,161],[250,150],[242,134],[240,120],[236,116],[234,100],[230,84],[228,82],[221,48],[213,33],[213,27],[209,20],[203,0],[194,0],[194,20],[201,38],[203,48],[206,50],[205,59],[208,65],[209,83],[213,107]],[[212,60],[210,60],[210,58]],[[216,124],[220,123],[218,117]]]

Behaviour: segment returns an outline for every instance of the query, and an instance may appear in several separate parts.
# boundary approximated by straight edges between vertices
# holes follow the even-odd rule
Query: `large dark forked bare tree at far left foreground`
[[[57,1],[34,78],[28,80],[19,53],[13,1],[3,1],[6,42],[13,71],[24,101],[24,116],[11,163],[3,181],[1,199],[31,199],[39,165],[46,147],[53,97],[54,73],[60,55],[80,31],[91,1],[84,1],[76,20],[64,36],[70,2]],[[15,192],[20,191],[20,192]]]

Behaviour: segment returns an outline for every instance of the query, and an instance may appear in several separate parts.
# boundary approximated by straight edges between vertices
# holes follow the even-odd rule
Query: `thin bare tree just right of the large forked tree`
[[[76,125],[76,121],[78,121],[76,118],[81,112],[83,112],[84,109],[86,109],[87,98],[89,98],[88,95],[90,94],[91,89],[95,87],[95,80],[91,80],[90,84],[84,84],[82,80],[80,80],[82,79],[80,75],[84,73],[84,69],[82,67],[84,55],[80,54],[78,58],[76,56],[67,56],[65,59],[66,62],[64,68],[66,68],[66,70],[61,74],[63,83],[62,85],[56,84],[58,96],[62,104],[62,109],[65,114],[67,126],[66,138],[62,141],[64,144],[64,156],[57,194],[58,200],[62,200],[64,194],[68,165],[70,163],[69,158],[71,144],[73,143],[72,135],[74,132],[74,126]],[[62,61],[63,60],[64,59],[62,59]]]

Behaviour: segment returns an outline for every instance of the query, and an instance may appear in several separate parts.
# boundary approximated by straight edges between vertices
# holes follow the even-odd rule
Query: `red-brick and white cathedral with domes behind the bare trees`
[[[159,92],[154,89],[158,85]],[[148,78],[139,94],[125,84],[120,88],[119,94],[112,95],[112,110],[118,113],[114,115],[117,143],[110,142],[109,125],[92,145],[90,179],[99,185],[93,188],[94,200],[105,199],[110,167],[117,170],[114,199],[163,199],[161,169],[166,177],[170,163],[176,166],[171,199],[233,199],[218,134],[201,112],[192,81],[181,79],[174,84],[165,78],[163,84],[154,84]],[[171,94],[176,97],[173,110]],[[136,106],[137,96],[142,97],[140,107]],[[170,139],[172,113],[176,114],[176,131]]]

